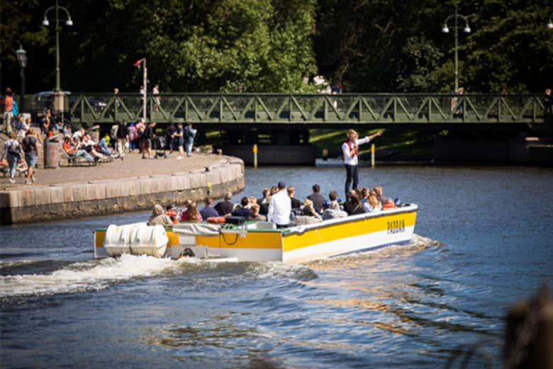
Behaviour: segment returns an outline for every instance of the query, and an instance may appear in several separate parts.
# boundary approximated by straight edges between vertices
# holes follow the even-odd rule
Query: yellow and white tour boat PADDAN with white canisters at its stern
[[[408,244],[418,206],[367,212],[310,225],[277,228],[272,222],[242,225],[181,222],[110,225],[94,232],[94,256],[150,255],[179,259],[194,256],[223,261],[304,263],[383,246]]]

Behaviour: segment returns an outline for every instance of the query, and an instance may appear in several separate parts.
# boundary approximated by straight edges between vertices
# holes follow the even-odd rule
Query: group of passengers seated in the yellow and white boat
[[[199,210],[194,201],[186,200],[178,209],[169,205],[164,210],[160,204],[154,205],[148,225],[172,225],[177,222],[201,222],[208,218],[224,222],[226,217],[242,217],[245,220],[269,221],[277,227],[312,224],[323,220],[347,217],[364,212],[378,212],[386,208],[395,208],[398,201],[384,197],[381,186],[374,189],[358,188],[342,203],[336,191],[330,191],[328,198],[320,193],[320,186],[313,185],[313,193],[303,202],[295,197],[294,186],[286,188],[279,182],[272,188],[264,188],[261,198],[244,196],[240,203],[232,202],[232,193],[226,193],[223,200],[213,205],[213,198],[203,199],[203,209]]]

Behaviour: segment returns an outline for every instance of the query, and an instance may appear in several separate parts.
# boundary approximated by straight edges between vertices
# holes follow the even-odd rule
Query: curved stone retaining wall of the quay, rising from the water
[[[0,191],[0,224],[150,210],[155,203],[201,202],[208,194],[220,198],[243,188],[244,163],[232,157],[222,157],[205,169],[177,174],[26,186]]]

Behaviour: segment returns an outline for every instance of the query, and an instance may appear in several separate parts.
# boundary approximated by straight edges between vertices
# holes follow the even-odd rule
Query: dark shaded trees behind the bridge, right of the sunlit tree
[[[315,50],[320,73],[350,91],[453,89],[454,1],[321,0]],[[549,0],[465,0],[459,14],[459,83],[467,91],[543,91],[553,84]],[[464,22],[459,20],[459,26]]]

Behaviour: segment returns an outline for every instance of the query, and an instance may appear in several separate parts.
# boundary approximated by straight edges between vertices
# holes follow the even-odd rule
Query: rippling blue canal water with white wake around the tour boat
[[[233,200],[278,181],[298,198],[314,183],[341,194],[344,177],[330,165],[247,169]],[[96,261],[93,229],[147,212],[1,227],[1,368],[442,368],[471,345],[498,365],[505,310],[553,279],[553,170],[360,177],[420,206],[410,246],[305,265]]]

